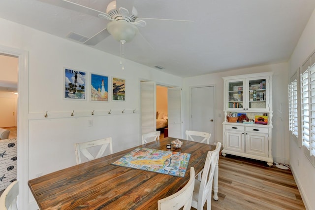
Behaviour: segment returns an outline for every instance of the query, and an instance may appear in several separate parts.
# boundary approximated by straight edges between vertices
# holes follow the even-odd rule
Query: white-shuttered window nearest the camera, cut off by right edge
[[[311,62],[314,55],[302,66],[300,93],[302,145],[305,155],[315,166],[315,59]]]

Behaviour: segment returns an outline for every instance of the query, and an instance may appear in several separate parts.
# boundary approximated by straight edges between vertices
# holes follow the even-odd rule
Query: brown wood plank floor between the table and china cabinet
[[[290,170],[232,155],[220,156],[219,200],[212,200],[211,206],[212,210],[305,210]]]

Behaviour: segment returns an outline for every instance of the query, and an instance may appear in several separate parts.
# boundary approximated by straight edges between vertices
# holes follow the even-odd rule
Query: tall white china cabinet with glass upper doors
[[[237,155],[273,165],[272,72],[227,76],[223,81],[222,155]],[[249,122],[236,122],[241,115],[246,115]]]

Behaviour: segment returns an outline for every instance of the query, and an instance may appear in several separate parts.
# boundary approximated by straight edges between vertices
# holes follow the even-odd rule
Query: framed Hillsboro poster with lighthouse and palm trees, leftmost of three
[[[64,99],[85,100],[86,72],[64,68]]]

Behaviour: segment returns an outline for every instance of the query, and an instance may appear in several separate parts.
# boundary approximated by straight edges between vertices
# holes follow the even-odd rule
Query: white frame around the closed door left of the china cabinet
[[[192,128],[192,125],[191,125],[191,114],[192,114],[192,106],[191,106],[191,89],[192,88],[202,88],[202,87],[213,87],[213,91],[214,91],[214,93],[213,93],[213,98],[214,98],[214,103],[213,103],[213,117],[214,117],[214,124],[213,124],[213,126],[214,126],[214,128],[213,128],[213,131],[214,131],[214,133],[213,134],[211,134],[211,137],[213,137],[213,139],[214,139],[214,143],[217,143],[218,142],[218,140],[216,139],[216,133],[217,133],[217,114],[216,114],[216,110],[217,110],[217,103],[216,103],[216,101],[217,101],[217,94],[216,94],[216,84],[208,84],[208,85],[194,85],[194,86],[190,86],[189,87],[189,130],[191,130],[191,128]]]

